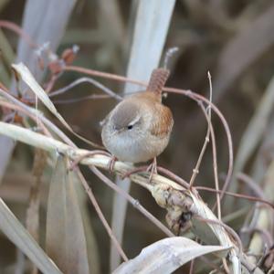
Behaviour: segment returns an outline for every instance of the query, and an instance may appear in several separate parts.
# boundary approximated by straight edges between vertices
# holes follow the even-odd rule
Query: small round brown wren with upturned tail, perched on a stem
[[[126,97],[101,122],[103,145],[114,159],[144,163],[163,153],[174,126],[172,111],[162,103],[169,76],[165,68],[153,69],[146,90]],[[157,170],[155,170],[157,173]]]

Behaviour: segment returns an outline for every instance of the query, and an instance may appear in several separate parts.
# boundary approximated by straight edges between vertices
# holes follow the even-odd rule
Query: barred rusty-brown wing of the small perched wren
[[[157,104],[154,112],[153,124],[150,127],[151,133],[159,138],[164,138],[170,134],[174,126],[173,113],[162,104]],[[157,113],[157,115],[156,115]]]

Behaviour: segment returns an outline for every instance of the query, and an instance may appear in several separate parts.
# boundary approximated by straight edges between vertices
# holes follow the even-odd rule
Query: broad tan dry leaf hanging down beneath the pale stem
[[[64,273],[89,274],[86,237],[74,189],[76,174],[58,157],[47,201],[47,254]]]

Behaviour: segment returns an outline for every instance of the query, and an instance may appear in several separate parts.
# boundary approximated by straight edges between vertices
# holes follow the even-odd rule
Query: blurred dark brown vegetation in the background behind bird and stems
[[[62,1],[57,2],[59,2],[57,9],[61,14]],[[78,0],[68,17],[66,31],[57,49],[58,54],[67,47],[78,45],[79,52],[74,65],[125,75],[137,2]],[[23,0],[0,0],[1,20],[22,26],[25,5],[26,1]],[[213,101],[227,119],[233,138],[234,153],[237,155],[241,146],[247,143],[252,147],[248,158],[237,171],[249,174],[258,184],[261,183],[273,154],[272,102],[268,100],[269,112],[258,122],[264,126],[255,127],[254,135],[244,135],[244,133],[247,132],[251,118],[261,106],[261,100],[274,74],[273,29],[273,1],[177,0],[165,43],[165,49],[179,47],[179,51],[170,62],[171,77],[167,86],[193,90],[207,96],[209,90],[207,71],[210,71],[213,79]],[[5,28],[0,30],[0,81],[7,87],[11,85],[10,64],[17,59],[18,40],[19,37],[14,32]],[[67,71],[58,79],[53,90],[67,86],[79,77],[79,73]],[[121,83],[107,79],[100,79],[100,82],[121,94]],[[62,100],[77,99],[94,93],[100,91],[84,83],[55,100],[58,111],[76,132],[93,142],[101,143],[100,121],[111,111],[116,101],[105,99],[62,103]],[[186,97],[169,94],[164,104],[174,113],[174,132],[169,146],[159,157],[158,162],[188,180],[205,140],[205,118],[201,115],[202,112],[197,104]],[[261,108],[265,109],[264,106]],[[52,121],[58,124],[54,118]],[[222,174],[227,171],[227,139],[216,117],[213,117],[213,123],[216,129],[217,159],[222,183]],[[256,129],[259,132],[256,132]],[[242,136],[247,138],[243,140]],[[258,141],[254,142],[252,136],[258,136]],[[79,147],[89,148],[84,142],[75,140],[73,136],[70,137]],[[0,148],[4,149],[1,146]],[[33,182],[33,161],[33,149],[18,143],[0,184],[0,196],[22,223],[26,222],[26,207]],[[90,174],[88,169],[82,170],[98,198],[102,211],[107,219],[111,220],[112,191]],[[44,225],[48,178],[51,173],[51,169],[48,168],[43,176],[40,191],[42,201],[40,216]],[[213,186],[210,149],[205,153],[196,184]],[[237,187],[233,190],[237,191]],[[240,191],[251,194],[248,188],[241,188]],[[148,192],[133,184],[131,194],[164,222],[165,212],[155,204]],[[204,192],[201,194],[206,203],[209,205],[214,203],[213,195]],[[88,201],[87,205],[97,241],[98,249],[95,248],[94,252],[98,253],[100,273],[106,273],[109,271],[110,239]],[[241,206],[251,209],[252,205],[252,203],[237,202],[237,207],[226,207],[224,213],[228,215]],[[239,215],[232,221],[229,225],[239,231],[238,229],[244,226],[245,220],[244,216]],[[128,208],[123,247],[130,258],[136,256],[143,247],[162,237],[162,233],[138,211],[132,206]],[[19,261],[20,255],[15,246],[0,234],[0,273],[13,273],[12,266],[19,264]]]

